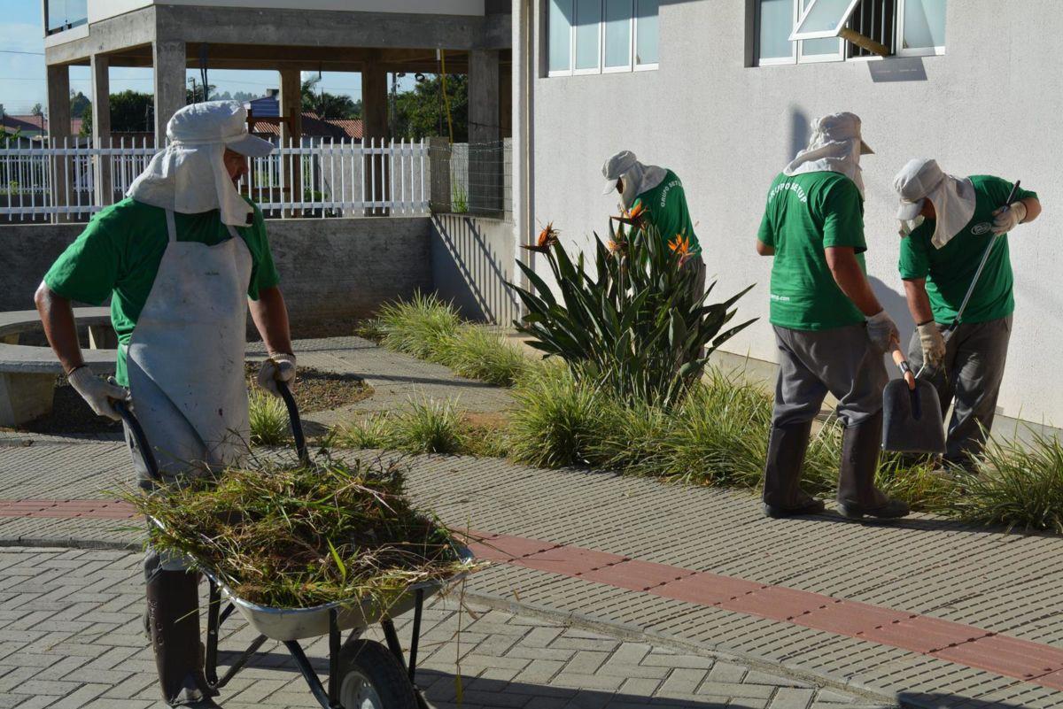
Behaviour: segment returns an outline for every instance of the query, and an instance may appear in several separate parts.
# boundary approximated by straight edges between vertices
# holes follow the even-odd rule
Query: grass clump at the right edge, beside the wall
[[[1029,434],[1028,443],[991,442],[977,472],[958,471],[959,491],[946,512],[967,522],[1063,534],[1063,444]]]

